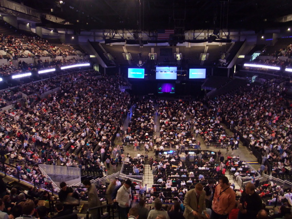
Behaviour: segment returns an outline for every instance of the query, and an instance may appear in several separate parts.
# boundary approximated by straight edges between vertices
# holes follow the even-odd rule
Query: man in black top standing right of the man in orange
[[[255,189],[254,183],[247,183],[245,186],[245,192],[240,197],[237,219],[256,219],[259,210],[263,209],[262,200],[255,192]]]

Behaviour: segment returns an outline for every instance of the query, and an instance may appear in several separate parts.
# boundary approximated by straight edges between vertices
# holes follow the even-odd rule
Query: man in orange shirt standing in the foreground
[[[227,219],[229,212],[235,207],[235,192],[229,186],[226,176],[219,179],[212,202],[211,219]]]

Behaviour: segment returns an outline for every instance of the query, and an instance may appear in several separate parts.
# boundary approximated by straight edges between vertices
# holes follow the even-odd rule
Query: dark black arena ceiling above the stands
[[[259,32],[265,28],[289,25],[291,21],[281,23],[276,20],[292,13],[292,0],[13,1],[64,18],[75,28],[88,30],[152,31],[183,27],[185,30],[240,28]]]

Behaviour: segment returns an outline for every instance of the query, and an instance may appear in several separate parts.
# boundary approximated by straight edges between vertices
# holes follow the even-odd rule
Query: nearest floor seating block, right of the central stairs
[[[203,157],[203,159],[206,159]],[[159,197],[164,203],[172,203],[174,201],[182,201],[185,193],[195,188],[197,183],[206,185],[208,181],[219,181],[221,171],[216,170],[214,164],[208,164],[199,159],[195,162],[182,162],[175,157],[175,161],[164,159],[162,162],[149,162],[154,173],[154,184],[147,194]],[[199,167],[205,169],[199,169]],[[185,175],[185,176],[184,176]],[[201,178],[204,176],[204,178]],[[147,195],[146,195],[147,197]],[[147,202],[151,203],[153,198],[148,198]]]

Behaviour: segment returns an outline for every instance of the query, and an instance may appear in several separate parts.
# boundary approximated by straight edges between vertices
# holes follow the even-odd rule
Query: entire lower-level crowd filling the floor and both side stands
[[[66,79],[57,77],[19,88],[18,92],[26,94],[58,86],[60,91],[45,99],[31,96],[23,105],[0,112],[0,155],[2,160],[9,158],[17,167],[5,166],[7,173],[20,173],[21,179],[51,188],[52,182],[42,175],[35,164],[66,165],[102,173],[110,165],[115,170],[118,164],[125,161],[129,167],[127,171],[129,169],[132,175],[141,175],[145,160],[149,160],[154,184],[149,190],[139,184],[135,189],[146,198],[147,203],[154,203],[155,211],[160,211],[161,203],[175,206],[181,202],[184,205],[180,205],[178,211],[184,213],[184,217],[198,214],[208,218],[211,214],[213,219],[225,219],[235,212],[241,219],[256,218],[258,212],[264,209],[262,200],[266,204],[279,200],[279,204],[291,204],[289,189],[284,190],[272,183],[259,185],[252,180],[244,191],[237,191],[224,176],[226,169],[234,173],[235,179],[256,175],[239,161],[238,156],[233,156],[240,136],[249,142],[249,147],[256,148],[262,154],[264,167],[266,162],[272,165],[273,174],[291,175],[292,103],[286,98],[285,88],[275,83],[243,87],[240,91],[209,100],[208,108],[197,101],[143,98],[134,101],[131,115],[130,96],[119,89],[127,82],[118,76],[95,76],[89,71],[72,73]],[[18,92],[12,91],[11,95]],[[9,91],[3,95],[9,95]],[[156,114],[159,128],[154,120]],[[123,118],[128,115],[131,115],[131,121],[123,130]],[[229,136],[222,122],[235,130],[235,134]],[[155,132],[159,134],[153,135]],[[232,149],[232,156],[227,157],[225,164],[224,157],[221,160],[220,156],[219,165],[216,157],[208,153],[194,154],[194,162],[190,162],[189,156],[181,161],[180,153],[191,147],[200,148],[198,136],[207,146],[213,144],[226,148],[226,153],[228,148]],[[133,159],[125,158],[123,146],[114,147],[112,144],[115,137],[123,139],[126,145],[133,144],[134,150],[144,147],[146,154],[139,152],[139,156]],[[168,147],[176,149],[173,157],[168,154],[155,159],[148,157],[149,150],[164,151]],[[261,171],[267,172],[267,169]],[[117,202],[122,218],[127,218],[125,213],[135,194],[131,193],[130,187],[134,185],[129,181],[121,186],[117,181],[113,182],[113,186],[109,186],[108,201]],[[101,187],[101,190],[105,197],[107,189]],[[190,197],[196,198],[190,195],[191,191],[198,195],[200,209],[197,206],[197,209],[190,211],[194,201]],[[127,201],[124,200],[125,192],[131,194]],[[281,196],[277,198],[279,192]],[[83,197],[82,191],[78,197]],[[200,197],[204,197],[201,202]],[[86,197],[83,198],[86,200]],[[228,200],[228,204],[220,198]],[[144,204],[138,207],[144,207]],[[147,219],[152,219],[154,211],[150,213]],[[167,216],[170,217],[171,213]]]

